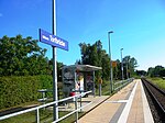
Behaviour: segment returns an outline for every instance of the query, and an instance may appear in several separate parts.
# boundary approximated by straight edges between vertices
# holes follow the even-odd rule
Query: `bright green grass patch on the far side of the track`
[[[165,80],[164,79],[162,79],[162,78],[147,78],[147,80],[152,81],[157,87],[165,90]]]

